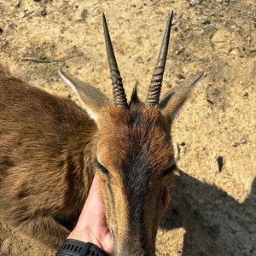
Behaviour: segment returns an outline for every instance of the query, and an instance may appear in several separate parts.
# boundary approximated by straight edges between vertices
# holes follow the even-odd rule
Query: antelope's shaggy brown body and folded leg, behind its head
[[[73,102],[0,69],[0,215],[57,247],[76,218],[94,170],[96,125]],[[86,163],[86,165],[85,165]]]

